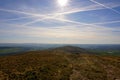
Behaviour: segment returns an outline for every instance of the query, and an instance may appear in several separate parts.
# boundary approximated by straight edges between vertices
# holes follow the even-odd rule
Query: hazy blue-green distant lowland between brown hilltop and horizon
[[[86,49],[90,53],[100,55],[120,55],[120,45],[116,44],[68,44]],[[54,49],[67,44],[0,44],[0,56],[20,54],[28,51]]]

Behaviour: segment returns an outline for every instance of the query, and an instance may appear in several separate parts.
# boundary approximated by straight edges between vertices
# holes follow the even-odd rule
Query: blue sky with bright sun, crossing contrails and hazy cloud
[[[1,0],[0,43],[120,44],[120,0]]]

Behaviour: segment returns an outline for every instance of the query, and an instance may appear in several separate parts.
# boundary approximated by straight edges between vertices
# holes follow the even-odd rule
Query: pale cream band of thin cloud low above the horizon
[[[19,27],[17,30],[14,28],[16,26]],[[48,29],[45,27],[31,29],[28,26],[26,26],[26,27],[24,26],[25,28],[22,28],[21,25],[15,25],[15,26],[11,25],[8,27],[13,27],[13,29],[12,30],[2,30],[2,31],[0,31],[0,33],[1,34],[6,33],[6,35],[16,34],[19,36],[27,36],[27,37],[31,37],[32,39],[33,38],[41,38],[41,37],[49,38],[49,39],[54,38],[53,39],[54,42],[57,42],[57,41],[59,42],[59,39],[60,40],[64,39],[65,41],[68,40],[68,42],[69,42],[69,40],[73,39],[73,41],[71,41],[71,42],[77,42],[77,43],[79,43],[81,41],[83,41],[83,42],[86,41],[86,43],[87,43],[90,41],[98,41],[99,42],[99,40],[100,41],[103,40],[103,42],[104,41],[107,42],[108,40],[109,41],[120,40],[119,36],[117,36],[117,35],[115,36],[109,29],[108,30],[103,29],[103,32],[102,32],[102,30],[100,30],[100,29],[93,28],[92,29],[93,31],[89,31],[89,29],[86,30],[86,28],[84,26],[79,29],[77,27],[72,27],[72,26],[67,26],[67,27],[63,26],[63,27],[60,27],[59,29],[51,29],[51,28]],[[69,29],[72,29],[72,30],[69,30]],[[107,33],[106,33],[106,31],[107,31]],[[49,42],[48,41],[49,39],[47,39],[47,42]],[[36,41],[36,39],[34,41]]]

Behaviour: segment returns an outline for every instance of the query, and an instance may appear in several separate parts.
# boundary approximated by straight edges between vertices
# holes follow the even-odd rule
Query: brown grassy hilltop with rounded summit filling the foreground
[[[1,56],[0,80],[120,80],[120,56],[73,46]]]

